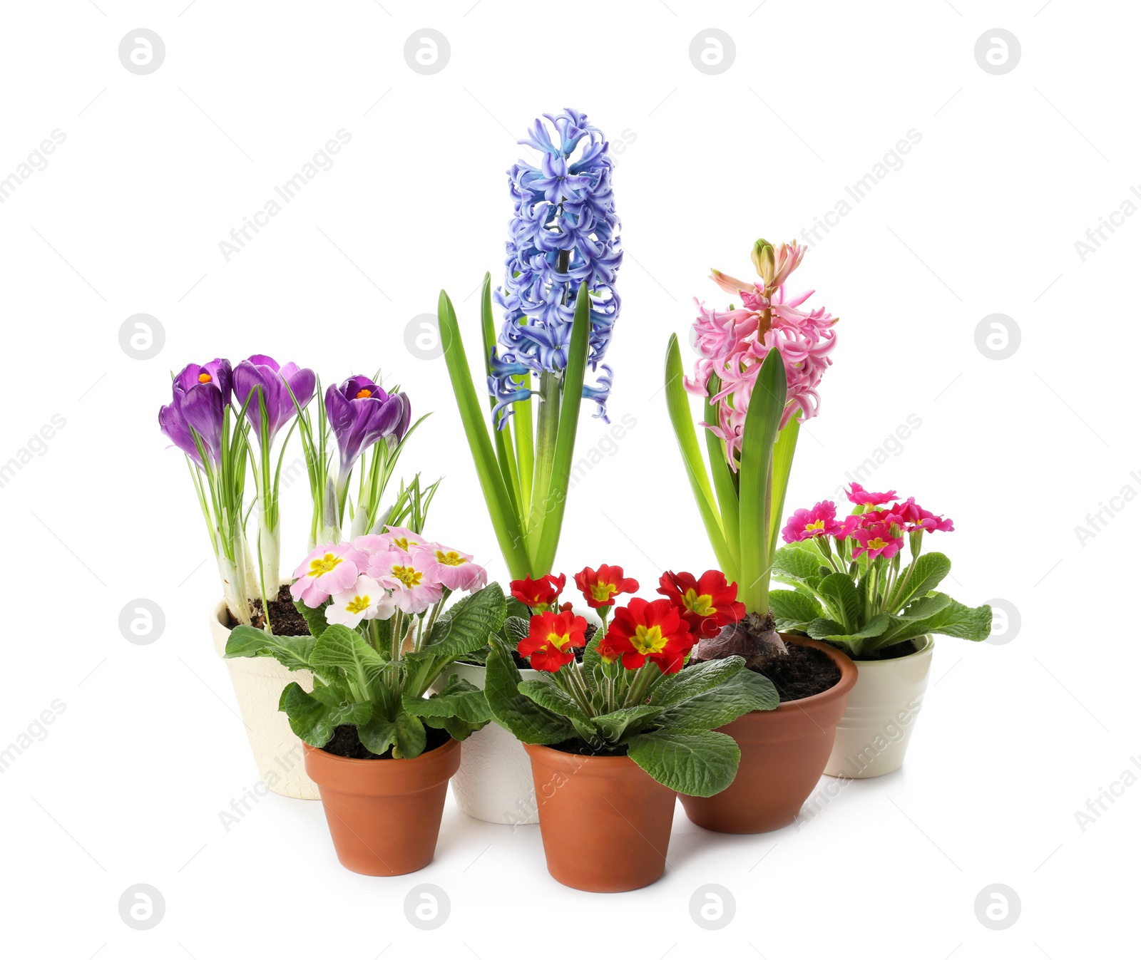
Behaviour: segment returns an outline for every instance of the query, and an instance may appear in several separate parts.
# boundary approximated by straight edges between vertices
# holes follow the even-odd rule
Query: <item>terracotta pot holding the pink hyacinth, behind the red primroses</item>
[[[856,683],[856,665],[834,646],[803,636],[782,634],[786,643],[823,650],[840,667],[835,686],[782,703],[775,710],[754,710],[722,726],[741,747],[737,776],[712,797],[681,797],[686,814],[698,827],[719,833],[763,833],[787,827],[824,773],[832,752],[836,722],[843,716],[848,691]]]

